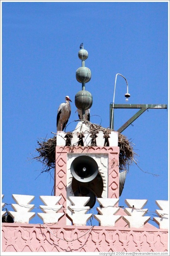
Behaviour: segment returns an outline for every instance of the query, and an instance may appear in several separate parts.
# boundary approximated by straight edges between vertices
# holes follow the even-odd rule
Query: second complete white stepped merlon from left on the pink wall
[[[58,213],[63,206],[56,205],[61,200],[61,196],[40,196],[40,199],[45,204],[40,205],[44,213],[37,213],[37,215],[44,224],[57,224],[58,220],[64,215],[64,213]]]

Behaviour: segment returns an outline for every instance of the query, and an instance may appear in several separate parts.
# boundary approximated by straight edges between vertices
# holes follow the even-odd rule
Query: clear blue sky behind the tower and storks
[[[2,4],[2,194],[8,210],[12,194],[34,195],[32,212],[41,212],[40,195],[51,195],[54,180],[32,162],[37,140],[56,132],[57,109],[69,95],[66,132],[75,129],[75,78],[80,43],[89,53],[86,90],[93,96],[90,122],[109,127],[116,73],[128,81],[129,104],[168,104],[168,1],[7,2]],[[118,76],[115,103],[125,104],[125,80]],[[137,109],[116,109],[115,130]],[[168,200],[169,110],[149,109],[123,134],[134,144],[138,166],[129,168],[119,205],[125,199]],[[153,173],[159,176],[154,176]],[[52,194],[53,195],[53,194]],[[155,214],[156,215],[156,214]],[[37,216],[30,223],[42,223]],[[157,226],[152,220],[149,223]],[[95,222],[96,224],[96,222]],[[158,227],[158,226],[157,226]]]

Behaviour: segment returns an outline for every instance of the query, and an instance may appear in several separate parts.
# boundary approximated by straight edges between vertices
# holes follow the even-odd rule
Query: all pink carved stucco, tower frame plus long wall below
[[[68,153],[108,154],[108,198],[119,198],[119,147],[56,147],[54,195],[66,208]],[[121,216],[127,215],[119,209]],[[121,217],[115,226],[68,226],[66,214],[58,224],[2,223],[3,252],[167,252],[168,229],[146,223],[129,228]]]

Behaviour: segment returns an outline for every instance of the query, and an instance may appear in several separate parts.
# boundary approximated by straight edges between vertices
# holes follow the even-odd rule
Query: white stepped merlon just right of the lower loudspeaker
[[[97,207],[97,211],[101,214],[95,214],[101,226],[113,226],[122,217],[121,215],[114,215],[119,211],[119,207],[115,205],[119,202],[117,198],[96,198],[101,207]]]

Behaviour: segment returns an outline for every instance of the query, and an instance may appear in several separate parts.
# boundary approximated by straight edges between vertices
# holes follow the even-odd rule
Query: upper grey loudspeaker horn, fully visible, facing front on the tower
[[[70,166],[71,174],[80,182],[90,182],[97,176],[98,170],[96,161],[89,156],[75,158]]]

